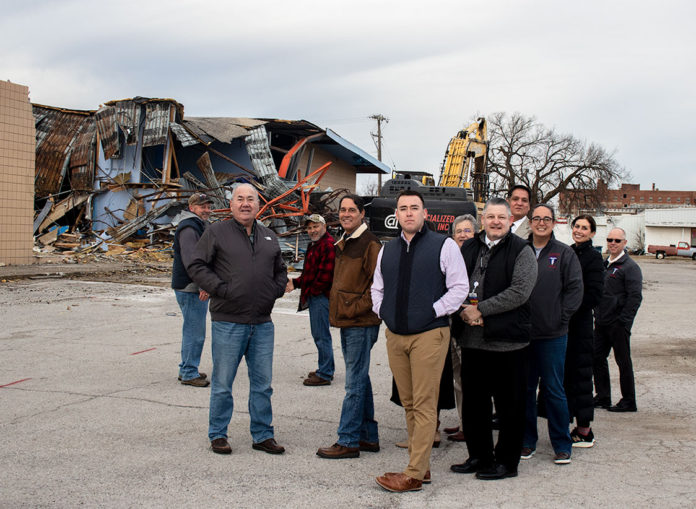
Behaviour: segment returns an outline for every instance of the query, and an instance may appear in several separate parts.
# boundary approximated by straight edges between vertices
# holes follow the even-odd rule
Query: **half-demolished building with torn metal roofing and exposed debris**
[[[121,242],[136,233],[171,237],[192,192],[228,208],[235,182],[262,197],[260,219],[292,232],[325,212],[330,191],[355,191],[356,174],[388,167],[329,129],[305,120],[185,117],[174,99],[135,97],[97,110],[33,104],[36,127],[34,235]],[[63,233],[64,230],[67,232]],[[97,238],[98,237],[98,238]],[[92,239],[92,243],[95,242]]]

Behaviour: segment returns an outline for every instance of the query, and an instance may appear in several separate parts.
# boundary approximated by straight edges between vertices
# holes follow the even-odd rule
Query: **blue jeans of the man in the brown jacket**
[[[341,350],[346,361],[346,395],[338,424],[338,443],[358,447],[360,440],[379,442],[370,382],[370,350],[379,325],[341,329]]]

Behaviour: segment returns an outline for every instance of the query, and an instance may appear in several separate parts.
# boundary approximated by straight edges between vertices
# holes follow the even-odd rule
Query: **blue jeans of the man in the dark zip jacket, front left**
[[[273,438],[271,377],[273,375],[273,322],[254,325],[212,323],[213,375],[210,386],[208,438],[227,438],[234,399],[232,383],[246,357],[249,373],[249,417],[254,443]]]

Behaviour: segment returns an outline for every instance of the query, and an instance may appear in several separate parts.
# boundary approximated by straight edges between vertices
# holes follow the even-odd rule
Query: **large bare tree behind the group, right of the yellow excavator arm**
[[[601,189],[597,191],[600,179],[608,186],[629,178],[613,153],[559,134],[535,117],[495,113],[488,117],[488,133],[488,169],[497,194],[525,184],[532,190],[533,203],[548,203],[564,193],[564,200],[582,201],[575,207],[597,209],[604,199]]]

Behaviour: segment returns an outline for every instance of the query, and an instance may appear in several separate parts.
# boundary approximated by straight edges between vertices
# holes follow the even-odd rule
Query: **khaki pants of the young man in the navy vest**
[[[450,331],[449,327],[440,327],[402,336],[387,329],[386,336],[389,367],[406,412],[409,463],[404,474],[422,481],[430,469],[440,377],[450,348]]]

